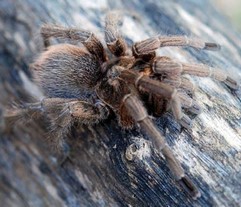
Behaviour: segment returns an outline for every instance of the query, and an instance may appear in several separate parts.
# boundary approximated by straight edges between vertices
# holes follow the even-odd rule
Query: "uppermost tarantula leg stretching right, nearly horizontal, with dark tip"
[[[159,47],[166,46],[188,46],[213,51],[220,50],[221,48],[221,46],[216,43],[204,42],[186,36],[156,36],[135,43],[132,47],[132,51],[135,57],[142,57],[155,52]]]

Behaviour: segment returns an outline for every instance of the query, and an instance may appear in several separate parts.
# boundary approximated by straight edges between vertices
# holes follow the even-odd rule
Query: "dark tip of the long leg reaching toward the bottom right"
[[[200,191],[186,175],[180,180],[178,180],[178,182],[185,190],[185,192],[187,192],[194,200],[198,199],[201,196]]]

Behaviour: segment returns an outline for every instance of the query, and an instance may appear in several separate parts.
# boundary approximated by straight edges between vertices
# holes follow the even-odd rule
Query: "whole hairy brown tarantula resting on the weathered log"
[[[114,12],[106,17],[105,42],[109,51],[92,32],[44,25],[41,34],[46,50],[31,65],[31,70],[47,98],[12,110],[7,116],[23,112],[31,117],[47,114],[51,120],[50,141],[61,148],[63,137],[73,123],[98,123],[114,112],[121,127],[138,125],[151,138],[180,185],[194,199],[198,198],[198,188],[185,174],[149,113],[161,116],[171,109],[183,127],[191,127],[192,122],[182,107],[194,114],[201,109],[190,95],[195,86],[183,74],[212,77],[233,89],[239,86],[211,67],[156,56],[156,50],[165,46],[219,50],[218,44],[186,36],[156,36],[137,42],[130,49],[118,31],[119,21],[119,14]],[[75,44],[50,46],[50,38],[68,39]]]

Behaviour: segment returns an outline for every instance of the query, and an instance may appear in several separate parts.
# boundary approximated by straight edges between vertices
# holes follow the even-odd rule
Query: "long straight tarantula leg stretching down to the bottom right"
[[[199,190],[185,175],[180,162],[174,156],[159,129],[149,118],[145,107],[142,105],[142,102],[136,96],[128,94],[124,97],[123,103],[133,119],[140,125],[142,132],[152,139],[154,147],[164,155],[169,169],[184,190],[187,191],[194,199],[200,197]]]

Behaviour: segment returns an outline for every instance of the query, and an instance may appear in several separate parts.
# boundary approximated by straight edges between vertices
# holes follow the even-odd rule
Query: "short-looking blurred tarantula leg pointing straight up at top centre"
[[[105,41],[110,52],[117,57],[125,55],[127,50],[126,42],[118,30],[121,22],[118,12],[109,12],[105,19]]]

